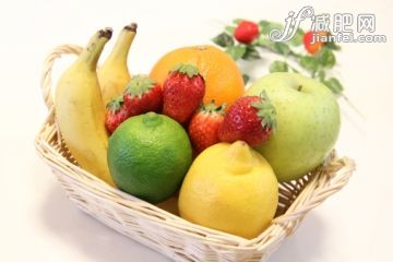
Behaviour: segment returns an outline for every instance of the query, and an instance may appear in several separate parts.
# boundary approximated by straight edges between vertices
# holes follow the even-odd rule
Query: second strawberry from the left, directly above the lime
[[[123,100],[131,117],[148,111],[160,112],[163,88],[148,76],[135,75],[123,92]]]

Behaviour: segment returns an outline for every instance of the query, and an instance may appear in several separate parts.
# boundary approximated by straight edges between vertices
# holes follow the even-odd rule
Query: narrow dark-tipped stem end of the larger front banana
[[[92,70],[95,70],[104,46],[110,39],[111,35],[112,29],[109,27],[95,33],[87,43],[87,46],[82,50],[79,61],[87,64]]]

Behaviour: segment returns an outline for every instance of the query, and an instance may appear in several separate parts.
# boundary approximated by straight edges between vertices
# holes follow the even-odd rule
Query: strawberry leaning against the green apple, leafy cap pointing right
[[[224,117],[218,138],[223,142],[242,140],[257,146],[271,136],[275,127],[275,108],[263,92],[261,96],[243,96],[235,102]]]

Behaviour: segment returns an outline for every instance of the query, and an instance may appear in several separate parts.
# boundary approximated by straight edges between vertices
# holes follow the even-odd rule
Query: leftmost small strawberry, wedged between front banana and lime
[[[105,116],[105,127],[109,133],[115,132],[126,119],[130,117],[127,110],[122,95],[110,100],[107,105],[107,114]]]

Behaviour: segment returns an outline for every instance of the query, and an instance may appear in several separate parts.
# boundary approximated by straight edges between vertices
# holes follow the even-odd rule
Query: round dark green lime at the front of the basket
[[[184,129],[155,112],[131,117],[109,139],[108,165],[115,183],[151,203],[171,196],[192,162]]]

